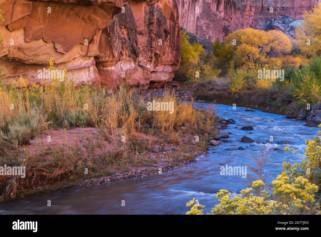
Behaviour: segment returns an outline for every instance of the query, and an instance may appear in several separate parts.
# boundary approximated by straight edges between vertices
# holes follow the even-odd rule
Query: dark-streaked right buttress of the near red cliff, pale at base
[[[106,55],[106,50],[100,50],[96,57],[101,83],[117,86],[122,73],[125,74],[122,81],[132,84],[160,87],[170,82],[180,62],[176,2],[131,2],[124,6],[130,14],[117,14],[109,22],[108,30],[103,31],[105,42],[100,42],[100,49],[109,47],[112,53]],[[115,46],[111,48],[108,42]]]

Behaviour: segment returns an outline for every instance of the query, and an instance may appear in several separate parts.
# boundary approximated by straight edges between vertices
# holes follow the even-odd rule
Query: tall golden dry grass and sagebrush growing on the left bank
[[[88,83],[79,85],[76,81],[67,75],[64,81],[53,79],[45,86],[30,85],[22,77],[0,83],[0,166],[27,164],[28,174],[24,180],[13,176],[6,181],[3,200],[21,192],[24,189],[21,184],[30,186],[35,174],[39,183],[46,185],[77,175],[82,177],[83,162],[89,162],[86,167],[95,172],[100,172],[106,164],[137,164],[139,159],[135,155],[152,149],[153,136],[177,143],[181,137],[194,137],[213,128],[216,118],[213,111],[195,109],[193,101],[182,103],[174,90],[166,89],[162,95],[155,96],[126,85],[110,91],[90,87]],[[148,110],[148,102],[152,100],[173,103],[173,113]],[[31,156],[24,148],[42,131],[61,127],[98,128],[115,149],[83,161],[80,147],[68,141],[66,146],[41,152],[41,156]],[[95,141],[96,145],[89,142],[87,148],[101,146],[99,139]]]

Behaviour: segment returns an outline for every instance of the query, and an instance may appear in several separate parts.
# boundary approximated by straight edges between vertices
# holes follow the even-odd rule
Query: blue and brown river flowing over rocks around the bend
[[[208,104],[195,103],[195,106],[204,108]],[[196,163],[162,174],[12,200],[0,204],[0,214],[185,214],[189,210],[186,203],[193,198],[209,209],[204,213],[210,212],[218,204],[216,193],[220,189],[230,190],[236,195],[248,181],[241,175],[221,175],[221,166],[251,165],[246,153],[257,154],[273,136],[272,162],[265,167],[264,173],[275,179],[282,172],[283,161],[299,163],[304,158],[285,152],[284,147],[304,154],[305,140],[318,134],[318,128],[305,127],[305,121],[285,119],[283,115],[259,110],[250,112],[242,107],[234,110],[228,105],[215,106],[220,117],[234,119],[236,124],[229,124],[222,131],[232,133],[224,144],[213,146],[207,154],[196,157]],[[254,130],[240,130],[243,126],[253,126]],[[243,143],[243,136],[255,142]],[[238,150],[238,147],[245,150]],[[47,206],[48,200],[51,206]],[[122,200],[125,206],[121,205]]]

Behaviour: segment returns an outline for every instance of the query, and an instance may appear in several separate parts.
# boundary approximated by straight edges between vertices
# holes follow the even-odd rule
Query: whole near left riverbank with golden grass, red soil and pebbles
[[[0,166],[26,168],[25,177],[0,176],[2,201],[133,167],[156,173],[164,162],[193,161],[217,133],[214,108],[195,109],[171,90],[111,91],[68,75],[28,85],[21,76],[7,79],[5,69],[0,81]],[[148,109],[153,100],[165,109]]]

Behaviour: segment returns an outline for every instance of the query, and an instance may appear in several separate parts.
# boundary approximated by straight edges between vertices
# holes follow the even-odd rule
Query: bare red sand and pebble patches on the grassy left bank
[[[48,141],[48,136],[51,136],[51,142]],[[143,133],[136,133],[135,137],[139,139],[149,140],[149,137]],[[99,130],[97,128],[72,128],[70,130],[64,130],[60,128],[60,130],[49,130],[40,133],[37,135],[37,138],[34,140],[30,140],[30,145],[27,148],[31,155],[42,155],[43,152],[48,149],[48,147],[56,147],[58,145],[61,146],[73,146],[73,147],[86,147],[89,141],[101,143],[100,147],[95,147],[94,154],[88,149],[82,149],[83,157],[88,156],[99,156],[105,154],[106,151],[115,151],[115,142],[120,143],[120,136],[112,137],[109,136],[110,141],[106,141],[102,136],[100,136]],[[161,143],[157,136],[152,136],[150,138],[152,140],[151,149],[147,152],[138,154],[140,158],[143,157],[142,162],[137,164],[136,166],[128,167],[127,170],[122,170],[116,167],[108,167],[108,171],[116,173],[116,175],[109,175],[100,178],[88,178],[89,180],[80,181],[75,185],[84,186],[84,185],[93,185],[99,183],[107,183],[116,181],[119,179],[126,179],[132,177],[146,176],[157,174],[162,169],[161,172],[166,172],[172,170],[174,168],[188,165],[192,161],[189,159],[184,159],[183,157],[178,157],[178,159],[173,160],[175,154],[180,153],[183,147],[193,147],[193,145],[185,144],[184,140],[188,140],[187,138],[183,140],[179,140],[177,145],[169,144],[169,143]],[[189,139],[190,140],[190,139]],[[189,143],[189,142],[188,142]],[[187,152],[185,155],[196,155],[193,150]],[[199,153],[198,153],[199,154]],[[178,155],[176,155],[178,156]],[[146,161],[153,160],[154,163],[152,166],[150,164],[146,164]],[[145,162],[144,162],[145,161]]]

